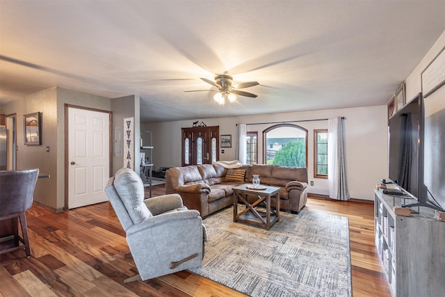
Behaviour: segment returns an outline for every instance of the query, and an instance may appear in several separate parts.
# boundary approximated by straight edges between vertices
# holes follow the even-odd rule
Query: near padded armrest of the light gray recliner
[[[129,236],[130,234],[147,230],[149,228],[153,228],[159,225],[168,225],[169,223],[172,223],[177,220],[191,220],[191,219],[193,220],[198,217],[200,218],[200,212],[195,209],[168,212],[166,214],[160,214],[159,216],[152,216],[150,218],[146,218],[142,222],[129,227],[126,230],[126,232],[127,236]]]

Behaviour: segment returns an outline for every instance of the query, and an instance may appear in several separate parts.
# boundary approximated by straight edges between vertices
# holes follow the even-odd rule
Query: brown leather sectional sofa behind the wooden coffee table
[[[233,188],[251,183],[259,175],[261,184],[280,187],[280,209],[298,213],[307,202],[307,168],[276,165],[242,166],[244,181],[229,181],[227,168],[218,164],[203,164],[170,168],[165,172],[165,193],[179,193],[188,209],[197,209],[202,217],[234,202]],[[272,201],[275,207],[275,200]]]

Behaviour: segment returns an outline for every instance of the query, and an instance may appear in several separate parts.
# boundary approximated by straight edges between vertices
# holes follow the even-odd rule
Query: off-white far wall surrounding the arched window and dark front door
[[[220,159],[235,159],[236,123],[285,122],[346,118],[346,152],[349,190],[351,198],[373,200],[373,188],[387,177],[387,106],[369,106],[353,109],[332,109],[299,113],[275,113],[233,118],[200,119],[207,126],[220,126],[220,134],[232,135],[232,147],[224,147]],[[141,125],[153,132],[153,159],[155,168],[181,166],[181,128],[191,127],[194,120],[158,122]],[[262,160],[262,131],[271,125],[248,125],[248,131],[258,131],[259,160]],[[327,120],[296,122],[308,130],[309,192],[328,194],[327,180],[314,179],[314,129],[327,129]]]

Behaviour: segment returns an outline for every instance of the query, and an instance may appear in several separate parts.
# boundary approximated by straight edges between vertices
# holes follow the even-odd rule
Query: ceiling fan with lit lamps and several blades
[[[238,90],[240,88],[250,88],[252,86],[257,86],[259,85],[257,81],[247,81],[245,83],[232,84],[233,77],[229,74],[216,74],[214,77],[215,81],[211,81],[210,79],[204,79],[202,77],[201,79],[206,83],[210,83],[212,86],[218,88],[219,92],[213,96],[213,99],[215,99],[215,101],[221,105],[224,105],[227,99],[229,100],[229,102],[234,102],[236,100],[236,95],[252,97],[252,98],[257,97],[257,95],[254,95],[252,93]],[[185,92],[200,92],[200,91],[204,90],[188,90]]]

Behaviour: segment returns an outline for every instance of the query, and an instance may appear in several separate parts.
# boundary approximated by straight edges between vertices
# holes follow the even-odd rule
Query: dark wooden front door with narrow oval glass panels
[[[182,128],[182,166],[218,161],[219,129],[219,126]]]

